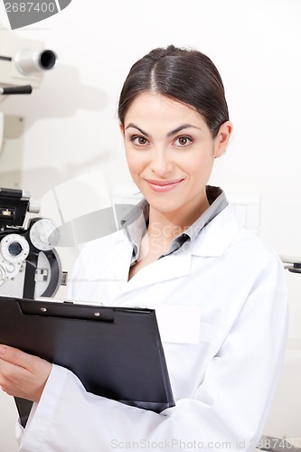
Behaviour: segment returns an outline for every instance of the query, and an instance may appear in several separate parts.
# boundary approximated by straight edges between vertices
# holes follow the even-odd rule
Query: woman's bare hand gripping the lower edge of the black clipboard
[[[8,395],[38,402],[51,370],[37,356],[0,345],[0,386]]]

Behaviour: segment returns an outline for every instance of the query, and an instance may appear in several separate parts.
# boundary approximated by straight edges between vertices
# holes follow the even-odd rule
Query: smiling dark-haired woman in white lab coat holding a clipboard
[[[287,289],[274,251],[207,185],[232,131],[220,74],[201,52],[155,49],[130,70],[118,115],[145,199],[82,251],[71,298],[167,312],[175,407],[157,414],[89,394],[72,372],[1,346],[2,388],[35,402],[20,450],[253,450],[283,360]]]

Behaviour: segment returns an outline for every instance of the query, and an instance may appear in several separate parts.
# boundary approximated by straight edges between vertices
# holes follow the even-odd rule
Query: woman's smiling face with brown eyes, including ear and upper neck
[[[197,217],[208,207],[205,187],[231,125],[212,139],[198,112],[155,93],[139,95],[127,110],[124,133],[129,172],[151,209]]]

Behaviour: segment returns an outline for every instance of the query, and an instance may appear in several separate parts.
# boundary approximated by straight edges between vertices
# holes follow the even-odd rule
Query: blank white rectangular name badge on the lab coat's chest
[[[155,315],[162,342],[178,344],[199,343],[200,306],[156,305]]]

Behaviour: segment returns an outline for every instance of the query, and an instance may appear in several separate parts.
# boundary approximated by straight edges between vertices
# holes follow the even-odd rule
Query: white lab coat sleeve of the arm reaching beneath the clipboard
[[[53,365],[20,451],[254,450],[287,339],[283,268],[276,260],[267,271],[268,278],[254,281],[192,398],[157,414],[87,393],[73,373]]]

